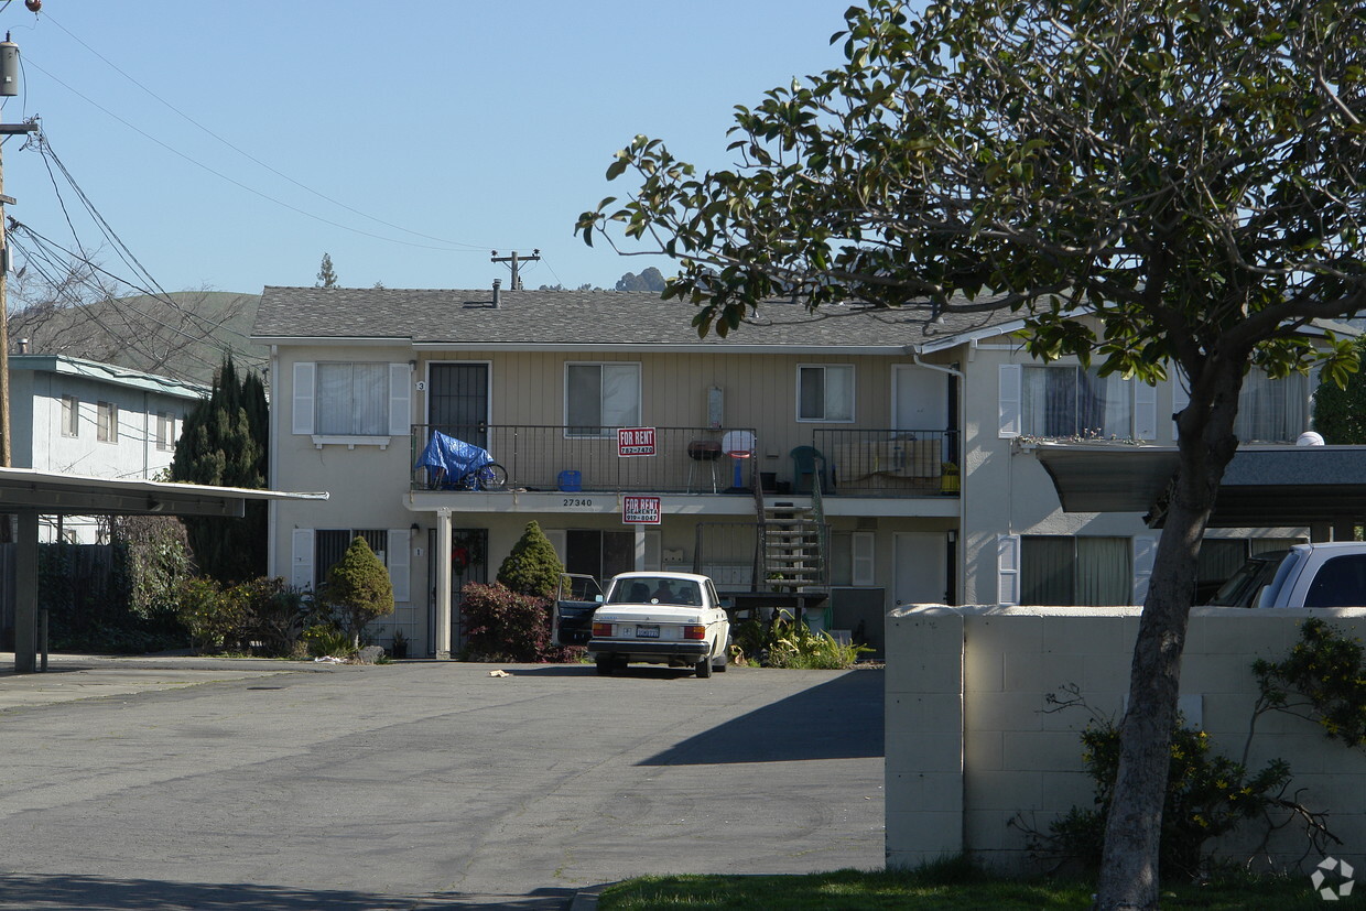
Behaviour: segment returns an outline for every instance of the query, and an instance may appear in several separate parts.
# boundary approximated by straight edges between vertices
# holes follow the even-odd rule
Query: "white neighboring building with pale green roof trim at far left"
[[[11,462],[97,478],[154,479],[208,387],[81,358],[10,355]],[[98,524],[45,518],[44,541],[94,544]]]

